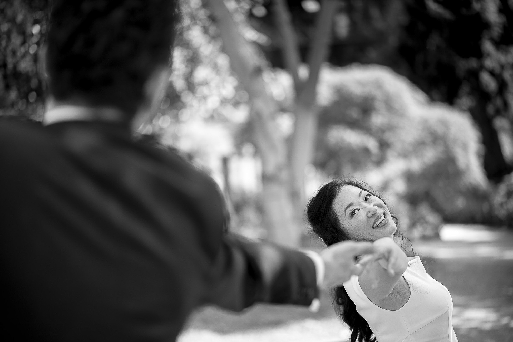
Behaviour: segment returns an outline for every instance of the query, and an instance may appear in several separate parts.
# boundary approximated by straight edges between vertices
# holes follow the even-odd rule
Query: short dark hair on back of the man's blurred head
[[[177,0],[54,0],[48,33],[50,90],[133,116],[144,84],[169,63]]]

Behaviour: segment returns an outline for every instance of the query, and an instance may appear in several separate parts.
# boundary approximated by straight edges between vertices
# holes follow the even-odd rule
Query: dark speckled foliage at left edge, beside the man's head
[[[37,63],[47,29],[46,0],[0,2],[0,116],[42,117],[46,83]]]

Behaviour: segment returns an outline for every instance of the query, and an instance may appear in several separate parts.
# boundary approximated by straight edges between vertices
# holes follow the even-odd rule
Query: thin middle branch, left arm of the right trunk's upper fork
[[[298,37],[294,32],[294,27],[290,18],[290,11],[284,0],[273,0],[274,4],[274,22],[282,36],[282,54],[285,67],[292,73],[294,86],[296,90],[301,85],[298,75],[298,67],[301,63],[298,47]]]

